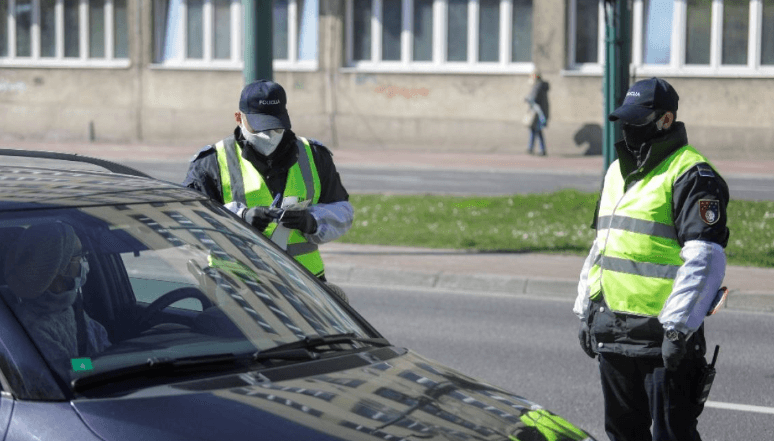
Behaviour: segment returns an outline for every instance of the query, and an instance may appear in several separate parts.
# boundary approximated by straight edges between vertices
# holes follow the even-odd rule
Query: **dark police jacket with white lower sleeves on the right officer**
[[[685,126],[675,122],[664,135],[651,142],[642,157],[636,157],[624,142],[615,145],[626,189],[641,180],[688,144]],[[604,193],[604,188],[603,188]],[[725,275],[724,248],[728,243],[726,227],[728,186],[708,163],[698,163],[675,179],[672,185],[673,224],[680,246],[683,264],[677,271],[672,292],[658,317],[612,311],[601,298],[589,297],[589,272],[598,259],[598,241],[589,253],[581,271],[578,296],[573,311],[590,328],[592,346],[602,353],[626,356],[660,357],[664,328],[675,328],[688,336],[690,355],[703,355],[706,348],[703,319],[715,301]],[[710,201],[713,216],[708,221],[706,201]],[[592,228],[597,227],[599,206]],[[637,289],[634,287],[633,289]],[[643,292],[641,295],[647,296]],[[637,293],[640,295],[640,293]]]

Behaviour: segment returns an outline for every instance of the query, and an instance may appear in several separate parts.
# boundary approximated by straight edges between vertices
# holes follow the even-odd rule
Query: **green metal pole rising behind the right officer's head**
[[[602,155],[604,174],[615,161],[615,141],[621,139],[620,124],[607,120],[613,110],[623,102],[629,89],[629,64],[631,62],[631,8],[630,0],[605,0],[605,115]]]

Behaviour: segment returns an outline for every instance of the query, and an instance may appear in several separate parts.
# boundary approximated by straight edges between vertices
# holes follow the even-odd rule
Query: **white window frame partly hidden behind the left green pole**
[[[154,6],[159,0],[153,0]],[[172,0],[170,0],[172,1]],[[214,54],[214,5],[213,0],[203,0],[202,5],[202,21],[203,21],[203,40],[208,42],[203,46],[203,57],[200,59],[187,58],[187,11],[188,0],[180,1],[180,14],[177,17],[177,32],[179,34],[176,39],[176,48],[174,57],[167,60],[157,60],[156,54],[156,41],[159,33],[164,32],[164,29],[157,29],[156,23],[152,23],[152,32],[154,35],[154,53],[153,61],[150,65],[152,69],[191,69],[191,70],[242,70],[244,68],[244,14],[242,13],[242,2],[240,0],[231,0],[230,5],[230,20],[231,20],[231,35],[230,35],[230,57],[228,59],[216,59],[213,58]],[[287,59],[274,59],[272,66],[277,71],[315,71],[318,68],[318,60],[320,58],[320,45],[319,38],[315,38],[317,47],[315,50],[315,58],[313,60],[299,60],[298,59],[298,12],[300,10],[298,3],[303,0],[288,0],[288,58]],[[319,20],[320,20],[320,4],[316,3],[316,20],[318,22],[318,35],[319,35]],[[273,11],[272,11],[273,14]]]

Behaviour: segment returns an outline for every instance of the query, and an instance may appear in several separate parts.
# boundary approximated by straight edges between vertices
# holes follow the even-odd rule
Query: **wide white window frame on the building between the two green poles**
[[[499,0],[498,52],[496,62],[479,58],[479,0],[467,4],[467,60],[447,61],[448,1],[433,1],[432,59],[413,60],[414,0],[402,0],[400,60],[382,60],[382,0],[371,0],[371,59],[354,59],[354,1],[346,0],[344,12],[344,71],[395,73],[530,73],[534,62],[512,62],[512,0]],[[534,2],[533,2],[534,8]],[[534,36],[534,26],[533,26]],[[534,41],[534,40],[533,40]]]

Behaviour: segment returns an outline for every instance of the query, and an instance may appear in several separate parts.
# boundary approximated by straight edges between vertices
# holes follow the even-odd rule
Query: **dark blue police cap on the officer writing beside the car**
[[[239,111],[247,116],[250,128],[256,132],[290,129],[288,98],[285,89],[269,80],[258,80],[242,89]]]

